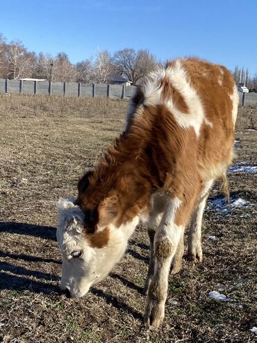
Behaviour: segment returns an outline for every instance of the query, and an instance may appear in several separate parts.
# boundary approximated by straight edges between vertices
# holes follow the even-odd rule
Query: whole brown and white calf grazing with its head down
[[[225,67],[181,58],[149,74],[135,93],[124,132],[97,168],[78,182],[78,197],[59,200],[61,287],[86,294],[126,250],[140,221],[151,256],[144,320],[163,321],[168,274],[188,255],[201,261],[201,219],[208,191],[226,181],[233,158],[238,90]]]

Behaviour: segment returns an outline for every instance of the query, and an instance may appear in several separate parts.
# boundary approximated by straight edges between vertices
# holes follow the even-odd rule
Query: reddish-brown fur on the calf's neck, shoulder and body
[[[233,93],[233,77],[226,68],[197,58],[185,58],[181,63],[212,126],[203,122],[197,137],[193,127],[178,125],[165,104],[142,107],[97,168],[78,184],[76,204],[86,213],[97,211],[99,225],[112,222],[119,227],[131,221],[150,206],[151,194],[157,189],[182,201],[175,223],[185,225],[204,182],[224,175],[231,163],[234,134],[229,95]],[[222,86],[218,79],[222,79]],[[163,99],[174,99],[176,107],[188,113],[179,91],[167,79],[162,83]],[[139,89],[135,108],[143,101]]]

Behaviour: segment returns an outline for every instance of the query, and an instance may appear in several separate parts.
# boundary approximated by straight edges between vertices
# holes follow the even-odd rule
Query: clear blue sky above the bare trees
[[[0,33],[72,63],[125,47],[257,72],[256,0],[0,0]]]

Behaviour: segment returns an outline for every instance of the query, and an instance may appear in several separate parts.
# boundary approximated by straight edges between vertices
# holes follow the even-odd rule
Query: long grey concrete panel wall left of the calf
[[[0,79],[0,93],[31,95],[63,95],[65,97],[110,97],[129,99],[135,86],[109,85],[103,83],[75,83],[23,81]]]

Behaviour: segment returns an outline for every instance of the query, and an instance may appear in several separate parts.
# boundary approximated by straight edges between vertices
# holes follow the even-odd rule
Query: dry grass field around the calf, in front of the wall
[[[169,277],[162,328],[142,324],[149,242],[131,238],[113,273],[80,299],[60,294],[56,201],[124,125],[127,102],[0,96],[0,342],[256,342],[257,110],[240,109],[232,205],[215,185],[204,213],[204,262]],[[244,172],[246,170],[246,172]],[[247,171],[248,170],[248,171]],[[234,171],[235,173],[232,173]],[[244,201],[242,206],[236,200]],[[234,204],[234,205],[233,205]],[[186,250],[185,250],[186,252]],[[208,298],[210,291],[233,301]]]

